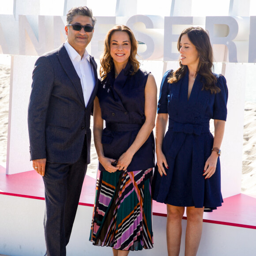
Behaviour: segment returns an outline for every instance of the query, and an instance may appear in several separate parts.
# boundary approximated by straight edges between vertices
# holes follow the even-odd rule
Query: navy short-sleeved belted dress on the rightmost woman
[[[167,176],[154,170],[153,199],[181,207],[205,207],[212,211],[222,205],[220,159],[214,175],[205,180],[203,169],[211,155],[213,135],[210,119],[225,120],[227,116],[228,89],[223,75],[214,74],[220,92],[211,94],[202,90],[203,77],[196,76],[188,99],[188,72],[177,83],[168,83],[172,71],[162,79],[158,113],[168,113],[169,126],[162,151],[169,169]]]

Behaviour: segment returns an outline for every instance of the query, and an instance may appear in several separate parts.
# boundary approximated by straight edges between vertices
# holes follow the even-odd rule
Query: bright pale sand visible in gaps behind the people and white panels
[[[6,165],[10,66],[0,65],[0,165]],[[92,128],[92,125],[91,125]],[[91,163],[87,175],[95,178],[98,157],[92,138]],[[241,192],[256,195],[256,102],[245,102]]]

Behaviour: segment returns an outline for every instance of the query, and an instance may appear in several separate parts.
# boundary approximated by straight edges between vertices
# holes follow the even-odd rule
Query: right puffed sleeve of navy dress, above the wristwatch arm
[[[215,101],[213,105],[213,117],[212,119],[224,120],[227,118],[227,101],[228,101],[228,87],[226,79],[223,75],[218,75],[217,86],[220,88],[220,92],[215,94]]]

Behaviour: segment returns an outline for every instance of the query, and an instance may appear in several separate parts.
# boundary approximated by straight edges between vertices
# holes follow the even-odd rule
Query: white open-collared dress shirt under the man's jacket
[[[90,64],[90,56],[87,50],[83,54],[83,58],[77,53],[77,51],[66,41],[64,46],[68,52],[68,55],[74,65],[75,71],[81,80],[83,89],[83,98],[85,106],[87,106],[90,95],[95,86],[94,71]]]

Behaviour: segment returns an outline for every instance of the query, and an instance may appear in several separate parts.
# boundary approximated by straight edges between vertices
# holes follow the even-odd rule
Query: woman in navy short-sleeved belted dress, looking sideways
[[[167,205],[169,256],[179,255],[181,219],[187,207],[188,256],[197,253],[203,211],[223,202],[219,156],[228,89],[224,76],[212,72],[213,53],[205,30],[185,29],[177,47],[180,68],[165,73],[158,101],[153,199]],[[214,119],[215,136],[209,130],[210,119]]]

